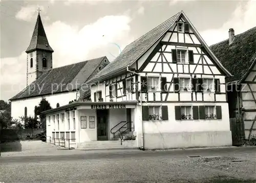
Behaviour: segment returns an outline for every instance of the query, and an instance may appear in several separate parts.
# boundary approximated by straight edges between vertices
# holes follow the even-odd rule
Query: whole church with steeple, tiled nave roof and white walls
[[[34,117],[35,107],[46,98],[52,108],[70,101],[90,99],[90,88],[83,84],[110,62],[105,57],[53,68],[54,50],[50,46],[40,14],[27,53],[27,87],[11,99],[11,116]]]

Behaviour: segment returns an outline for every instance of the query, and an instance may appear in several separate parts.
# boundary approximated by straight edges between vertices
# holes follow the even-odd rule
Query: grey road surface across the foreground
[[[256,182],[255,147],[62,151],[65,155],[1,157],[0,182]],[[246,161],[205,162],[190,155]]]

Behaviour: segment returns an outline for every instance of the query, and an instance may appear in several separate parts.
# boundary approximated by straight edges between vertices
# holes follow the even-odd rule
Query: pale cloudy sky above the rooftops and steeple
[[[53,68],[106,56],[183,10],[208,46],[256,26],[256,1],[37,0],[0,2],[0,99],[26,87],[27,54],[38,11],[53,48]],[[117,46],[118,45],[118,46]],[[120,49],[119,49],[120,47]]]

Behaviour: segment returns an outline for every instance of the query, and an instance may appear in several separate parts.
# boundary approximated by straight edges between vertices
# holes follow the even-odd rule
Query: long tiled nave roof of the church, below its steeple
[[[104,61],[109,63],[106,57],[100,57],[45,71],[37,80],[10,100],[75,91],[95,73],[95,70]],[[83,86],[83,89],[89,90],[89,87]]]

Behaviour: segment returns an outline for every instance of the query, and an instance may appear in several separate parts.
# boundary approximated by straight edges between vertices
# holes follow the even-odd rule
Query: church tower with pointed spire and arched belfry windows
[[[38,13],[35,29],[27,53],[27,86],[38,79],[42,72],[52,69],[53,49],[48,43],[45,29]]]

